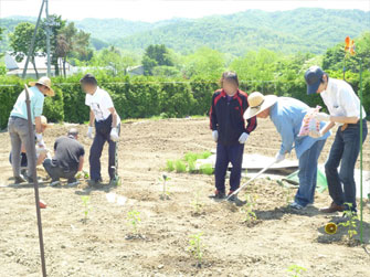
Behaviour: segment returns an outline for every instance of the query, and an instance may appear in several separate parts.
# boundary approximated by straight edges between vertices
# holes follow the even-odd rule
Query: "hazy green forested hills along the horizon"
[[[25,20],[34,19],[0,19],[0,25],[8,33]],[[96,49],[114,44],[124,50],[142,52],[149,44],[166,44],[183,54],[201,46],[235,55],[262,47],[284,53],[321,54],[347,35],[356,38],[370,30],[370,12],[303,8],[277,12],[247,10],[230,15],[156,23],[123,19],[84,19],[75,23],[92,33]],[[0,51],[8,47],[6,39],[0,44]]]

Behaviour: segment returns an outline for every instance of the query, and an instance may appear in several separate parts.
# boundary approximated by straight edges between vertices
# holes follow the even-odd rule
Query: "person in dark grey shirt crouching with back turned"
[[[51,185],[57,185],[60,178],[67,179],[68,185],[75,185],[78,181],[75,175],[84,167],[84,147],[77,141],[78,130],[72,128],[67,136],[60,137],[54,143],[54,158],[45,159],[44,169],[51,177]]]

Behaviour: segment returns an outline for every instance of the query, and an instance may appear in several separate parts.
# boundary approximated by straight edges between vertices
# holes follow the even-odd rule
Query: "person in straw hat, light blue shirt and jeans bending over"
[[[277,97],[255,92],[249,97],[250,107],[244,114],[245,119],[253,116],[267,118],[274,122],[282,137],[282,146],[275,156],[275,162],[285,159],[285,155],[295,148],[299,160],[299,189],[295,200],[289,204],[294,210],[303,210],[314,203],[317,181],[317,161],[329,132],[319,138],[309,136],[298,137],[302,121],[309,111],[309,107],[290,97]],[[324,126],[324,125],[323,125]]]

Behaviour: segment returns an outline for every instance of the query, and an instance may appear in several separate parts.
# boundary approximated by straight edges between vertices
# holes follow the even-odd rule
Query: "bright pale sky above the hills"
[[[0,0],[0,18],[12,15],[38,17],[41,1],[42,0]],[[63,19],[120,18],[147,22],[172,18],[202,18],[212,14],[230,14],[250,9],[278,11],[306,7],[370,10],[369,0],[49,0],[49,2],[50,13],[62,14]]]

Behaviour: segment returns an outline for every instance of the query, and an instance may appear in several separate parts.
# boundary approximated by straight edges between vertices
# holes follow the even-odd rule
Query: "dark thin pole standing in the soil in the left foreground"
[[[30,94],[29,88],[24,84],[25,90],[25,105],[27,105],[27,118],[29,119],[29,139],[31,142],[31,153],[30,159],[36,160],[36,149],[34,147],[34,134],[33,134],[33,126],[32,126],[32,118],[31,118],[31,102],[30,102]],[[46,277],[46,264],[45,264],[45,253],[44,253],[44,239],[42,235],[42,222],[41,222],[41,212],[40,212],[40,198],[39,198],[39,182],[38,182],[38,172],[36,166],[34,162],[31,163],[32,168],[32,178],[33,178],[33,187],[34,187],[34,199],[36,204],[36,215],[38,215],[38,228],[39,228],[39,243],[40,243],[40,256],[41,256],[41,267],[42,267],[42,276]]]

